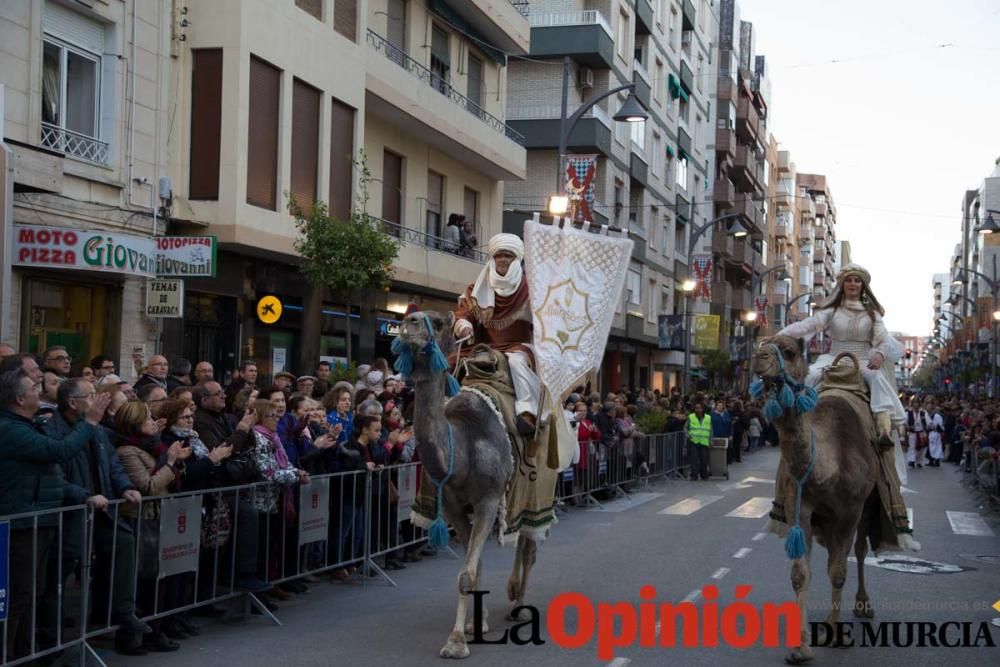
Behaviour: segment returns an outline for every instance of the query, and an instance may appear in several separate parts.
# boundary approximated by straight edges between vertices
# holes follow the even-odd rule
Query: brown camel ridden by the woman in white
[[[781,376],[772,346],[780,351],[788,375],[801,383],[808,371],[802,343],[789,336],[775,336],[761,345],[753,359],[754,373],[764,378],[765,386]],[[833,606],[827,623],[840,620],[841,594],[847,580],[847,556],[852,541],[858,561],[854,615],[861,618],[874,616],[865,591],[865,555],[868,553],[869,526],[878,521],[876,479],[879,468],[871,440],[872,431],[859,421],[849,400],[841,395],[821,395],[812,412],[799,415],[793,409],[786,409],[774,420],[781,444],[778,486],[786,489],[782,502],[790,524],[795,521],[795,480],[805,475],[815,441],[815,460],[803,484],[799,511],[806,553],[805,557],[792,561],[791,572],[792,588],[802,612],[802,644],[785,656],[789,664],[801,664],[813,658],[807,630],[806,592],[809,589],[809,556],[814,536],[819,544],[826,547],[826,570],[833,585]],[[785,484],[782,484],[782,478]]]

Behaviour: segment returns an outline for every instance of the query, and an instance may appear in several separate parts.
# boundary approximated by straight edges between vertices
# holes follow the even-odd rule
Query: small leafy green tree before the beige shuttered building
[[[311,368],[319,359],[322,292],[329,288],[348,304],[358,290],[388,290],[399,254],[399,241],[386,234],[382,221],[368,215],[368,182],[371,172],[364,151],[353,161],[358,169],[358,191],[347,220],[331,217],[325,202],[305,211],[289,195],[288,208],[295,216],[298,237],[295,250],[302,256],[300,270],[313,286],[303,313],[302,364]],[[363,302],[374,301],[362,298]],[[348,312],[348,315],[350,313]],[[363,322],[364,322],[363,318]],[[367,332],[374,337],[374,332]],[[366,332],[362,332],[365,335]],[[351,356],[350,317],[347,321],[347,355]]]

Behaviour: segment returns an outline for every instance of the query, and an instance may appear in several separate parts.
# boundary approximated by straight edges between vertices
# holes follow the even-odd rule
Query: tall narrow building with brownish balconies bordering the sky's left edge
[[[719,59],[716,67],[714,215],[737,214],[749,232],[741,239],[726,233],[720,223],[712,235],[712,313],[719,315],[722,338],[741,341],[731,346],[734,362],[745,360],[750,335],[746,315],[757,309],[767,268],[767,211],[770,167],[767,163],[767,111],[770,84],[761,59],[758,74],[753,24],[740,20],[735,0],[722,0],[719,21]],[[763,298],[761,299],[763,302]],[[726,349],[726,348],[723,348]]]

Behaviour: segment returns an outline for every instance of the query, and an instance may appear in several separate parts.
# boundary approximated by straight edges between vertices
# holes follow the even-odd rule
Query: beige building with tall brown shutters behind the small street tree
[[[485,244],[502,227],[503,181],[525,175],[522,138],[503,121],[507,54],[528,49],[519,4],[187,3],[172,220],[218,238],[220,271],[210,290],[188,291],[184,320],[171,323],[178,353],[223,367],[256,359],[265,375],[307,370],[317,356],[368,360],[389,356],[409,303],[454,307],[483,253],[444,242],[449,216],[465,215]],[[340,218],[363,204],[380,218],[401,242],[392,288],[351,299],[310,289],[289,196],[328,202]],[[276,324],[255,317],[264,295],[284,305]],[[318,331],[307,330],[316,310]]]

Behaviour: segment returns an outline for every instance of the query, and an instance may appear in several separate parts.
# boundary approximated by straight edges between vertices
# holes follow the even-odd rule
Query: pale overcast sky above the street
[[[887,327],[927,335],[964,193],[1000,158],[1000,1],[738,6],[770,69],[769,131],[799,172],[827,176],[837,240],[871,272]]]

